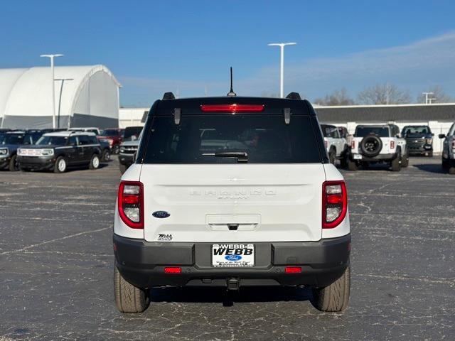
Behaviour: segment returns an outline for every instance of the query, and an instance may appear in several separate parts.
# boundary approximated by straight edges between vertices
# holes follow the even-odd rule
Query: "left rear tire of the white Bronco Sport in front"
[[[149,307],[149,291],[125,281],[114,266],[115,305],[121,313],[142,313]]]

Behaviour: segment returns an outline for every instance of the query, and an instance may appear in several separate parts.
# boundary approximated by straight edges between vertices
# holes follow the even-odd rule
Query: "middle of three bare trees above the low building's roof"
[[[405,104],[411,102],[409,92],[389,83],[374,85],[359,92],[360,104]]]

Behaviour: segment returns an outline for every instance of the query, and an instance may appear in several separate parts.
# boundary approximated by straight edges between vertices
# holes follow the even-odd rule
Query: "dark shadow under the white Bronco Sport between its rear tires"
[[[225,288],[154,288],[150,292],[152,302],[223,303],[229,307],[246,302],[309,301],[310,288],[283,288],[277,286],[245,287],[239,291]]]

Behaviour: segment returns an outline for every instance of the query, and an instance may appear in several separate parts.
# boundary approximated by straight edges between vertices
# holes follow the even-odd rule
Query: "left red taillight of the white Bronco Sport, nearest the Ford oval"
[[[122,181],[118,202],[120,218],[132,229],[144,229],[144,185],[139,181]]]

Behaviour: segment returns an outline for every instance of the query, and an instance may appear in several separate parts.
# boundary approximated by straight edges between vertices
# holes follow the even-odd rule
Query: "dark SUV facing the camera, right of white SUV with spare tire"
[[[433,136],[429,126],[405,126],[401,135],[406,139],[407,151],[410,155],[433,156]]]

